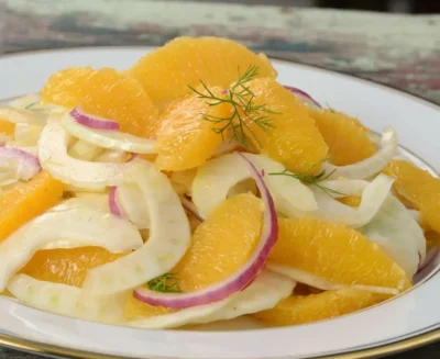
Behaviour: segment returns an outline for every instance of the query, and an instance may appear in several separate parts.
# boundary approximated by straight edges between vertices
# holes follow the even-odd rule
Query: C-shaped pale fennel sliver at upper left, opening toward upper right
[[[123,173],[136,160],[125,164],[90,162],[70,157],[67,144],[70,136],[57,119],[50,119],[38,141],[38,158],[42,167],[54,178],[89,190],[100,190],[123,182]]]

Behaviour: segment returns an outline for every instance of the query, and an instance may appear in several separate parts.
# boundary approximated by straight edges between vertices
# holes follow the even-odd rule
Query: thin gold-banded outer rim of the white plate
[[[127,49],[143,49],[143,48],[155,48],[157,46],[99,46],[99,45],[92,45],[92,46],[73,46],[73,47],[65,47],[65,48],[40,48],[40,49],[30,49],[30,51],[21,51],[21,52],[15,52],[15,53],[7,53],[0,55],[0,61],[2,59],[10,59],[13,57],[28,57],[28,56],[33,56],[33,55],[38,55],[38,54],[47,54],[47,53],[65,53],[65,52],[81,52],[81,51],[127,51]],[[299,67],[308,68],[308,69],[315,69],[319,70],[322,72],[327,74],[333,74],[338,75],[344,78],[351,78],[353,80],[360,81],[360,82],[365,82],[370,85],[374,85],[376,87],[380,87],[384,90],[391,90],[392,92],[403,94],[413,101],[421,102],[425,105],[428,105],[430,108],[433,108],[437,111],[440,111],[440,104],[436,103],[433,100],[426,99],[419,94],[411,93],[407,90],[399,89],[397,87],[391,86],[391,85],[385,85],[382,82],[378,82],[373,79],[360,77],[353,74],[348,74],[339,70],[333,70],[333,69],[328,69],[323,66],[319,65],[310,65],[306,64],[302,61],[294,60],[294,59],[287,59],[284,58],[279,55],[275,56],[267,56],[271,59],[275,59],[280,63],[286,63],[286,64],[294,64]],[[440,323],[439,323],[440,324]],[[421,333],[419,335],[415,335],[413,337],[408,337],[406,339],[402,339],[398,341],[385,344],[385,345],[380,345],[377,347],[373,348],[365,348],[365,349],[360,349],[360,350],[353,350],[353,351],[348,351],[348,352],[342,352],[342,354],[331,354],[327,356],[321,356],[319,358],[324,358],[324,359],[362,359],[362,358],[377,358],[377,357],[383,357],[383,356],[388,356],[392,354],[397,354],[410,349],[415,349],[435,341],[440,340],[440,328],[432,329],[426,333]],[[116,359],[120,358],[119,356],[114,355],[109,355],[109,354],[99,354],[99,352],[92,352],[92,351],[87,351],[87,350],[80,350],[80,349],[74,349],[74,348],[68,348],[68,347],[62,347],[62,346],[56,346],[56,345],[51,345],[51,344],[44,344],[44,343],[38,343],[35,340],[30,340],[30,339],[23,339],[20,337],[14,337],[12,335],[8,335],[7,333],[0,333],[0,346],[3,346],[6,348],[10,349],[16,349],[16,350],[22,350],[22,351],[28,351],[28,352],[33,352],[33,354],[38,354],[43,356],[63,356],[63,357],[70,357],[70,358],[84,358],[84,359]]]

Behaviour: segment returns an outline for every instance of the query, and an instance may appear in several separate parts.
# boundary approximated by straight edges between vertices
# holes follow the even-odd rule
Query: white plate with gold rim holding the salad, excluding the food
[[[130,67],[151,48],[80,48],[0,58],[0,99],[37,92],[47,77],[68,66]],[[274,60],[279,81],[322,103],[359,116],[380,132],[393,125],[399,141],[440,170],[440,108],[358,78]],[[316,324],[253,328],[237,323],[210,330],[145,330],[107,326],[44,313],[0,298],[0,344],[70,357],[107,358],[306,358],[353,352],[361,358],[440,338],[440,273],[432,270],[410,292],[355,314]],[[228,326],[228,325],[227,325]],[[421,336],[424,333],[428,333]],[[415,336],[411,340],[402,341]],[[391,345],[393,343],[397,343]],[[384,347],[385,346],[385,347]],[[381,347],[376,349],[371,349]]]

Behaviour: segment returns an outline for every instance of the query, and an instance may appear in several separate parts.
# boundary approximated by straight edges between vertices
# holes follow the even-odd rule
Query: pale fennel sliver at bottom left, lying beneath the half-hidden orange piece
[[[82,302],[82,290],[78,287],[36,280],[26,274],[11,278],[7,287],[20,302],[35,308],[59,315],[96,321],[120,323],[123,319],[123,295]]]

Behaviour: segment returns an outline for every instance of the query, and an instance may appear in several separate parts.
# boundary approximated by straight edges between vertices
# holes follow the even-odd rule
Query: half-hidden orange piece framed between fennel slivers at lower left
[[[38,250],[20,272],[43,281],[81,287],[89,269],[122,256],[101,247]]]

